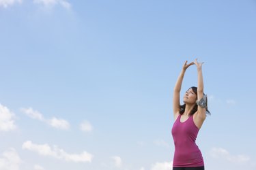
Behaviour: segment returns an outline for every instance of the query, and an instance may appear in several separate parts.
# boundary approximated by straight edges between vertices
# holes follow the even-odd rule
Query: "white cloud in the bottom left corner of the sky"
[[[0,169],[1,170],[19,170],[20,169],[20,157],[16,150],[11,148],[8,151],[3,152],[0,157]]]

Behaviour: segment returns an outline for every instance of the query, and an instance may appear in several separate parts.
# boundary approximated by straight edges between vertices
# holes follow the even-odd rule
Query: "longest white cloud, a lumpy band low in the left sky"
[[[49,156],[53,158],[57,158],[60,160],[65,160],[67,162],[91,162],[93,155],[89,154],[88,152],[82,152],[81,154],[68,154],[65,152],[63,149],[58,148],[58,146],[49,146],[47,143],[46,144],[35,144],[32,143],[32,141],[25,141],[23,143],[23,149],[25,150],[30,150],[33,152],[37,152],[38,154],[42,156]]]

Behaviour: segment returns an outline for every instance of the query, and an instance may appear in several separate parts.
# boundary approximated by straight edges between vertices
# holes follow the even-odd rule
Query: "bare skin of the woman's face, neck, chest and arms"
[[[182,81],[183,81],[186,69],[188,69],[188,67],[190,67],[191,65],[195,65],[197,67],[197,95],[195,94],[195,92],[193,92],[192,89],[188,89],[188,91],[185,93],[183,97],[183,101],[184,103],[186,103],[186,108],[185,108],[184,114],[182,114],[180,118],[180,122],[185,122],[188,119],[190,111],[193,109],[194,105],[197,104],[196,103],[197,99],[201,99],[203,97],[203,73],[202,73],[203,63],[197,62],[197,59],[195,59],[195,62],[192,62],[189,64],[188,64],[188,61],[186,61],[182,67],[182,71],[180,72],[179,77],[177,78],[177,82],[173,90],[174,120],[176,120],[180,114],[180,90],[182,88]],[[206,109],[202,107],[198,107],[197,112],[193,114],[193,120],[198,129],[201,129],[201,126],[203,125],[205,118],[206,118]]]

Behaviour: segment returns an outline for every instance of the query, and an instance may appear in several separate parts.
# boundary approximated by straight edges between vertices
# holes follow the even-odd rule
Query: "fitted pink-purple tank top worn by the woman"
[[[175,146],[173,167],[202,167],[203,156],[195,143],[199,129],[194,123],[193,116],[185,122],[180,122],[181,114],[173,124],[171,133]]]

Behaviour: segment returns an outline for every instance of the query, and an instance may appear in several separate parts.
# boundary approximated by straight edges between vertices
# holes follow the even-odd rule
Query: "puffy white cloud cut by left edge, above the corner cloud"
[[[0,131],[12,131],[16,129],[14,114],[8,107],[0,104]]]

